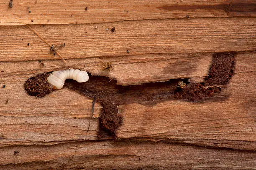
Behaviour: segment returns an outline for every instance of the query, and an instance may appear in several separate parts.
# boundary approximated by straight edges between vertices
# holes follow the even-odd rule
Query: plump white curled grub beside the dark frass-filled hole
[[[47,81],[55,89],[61,89],[66,79],[77,80],[77,82],[87,82],[89,76],[86,71],[69,69],[54,71],[47,77]]]

